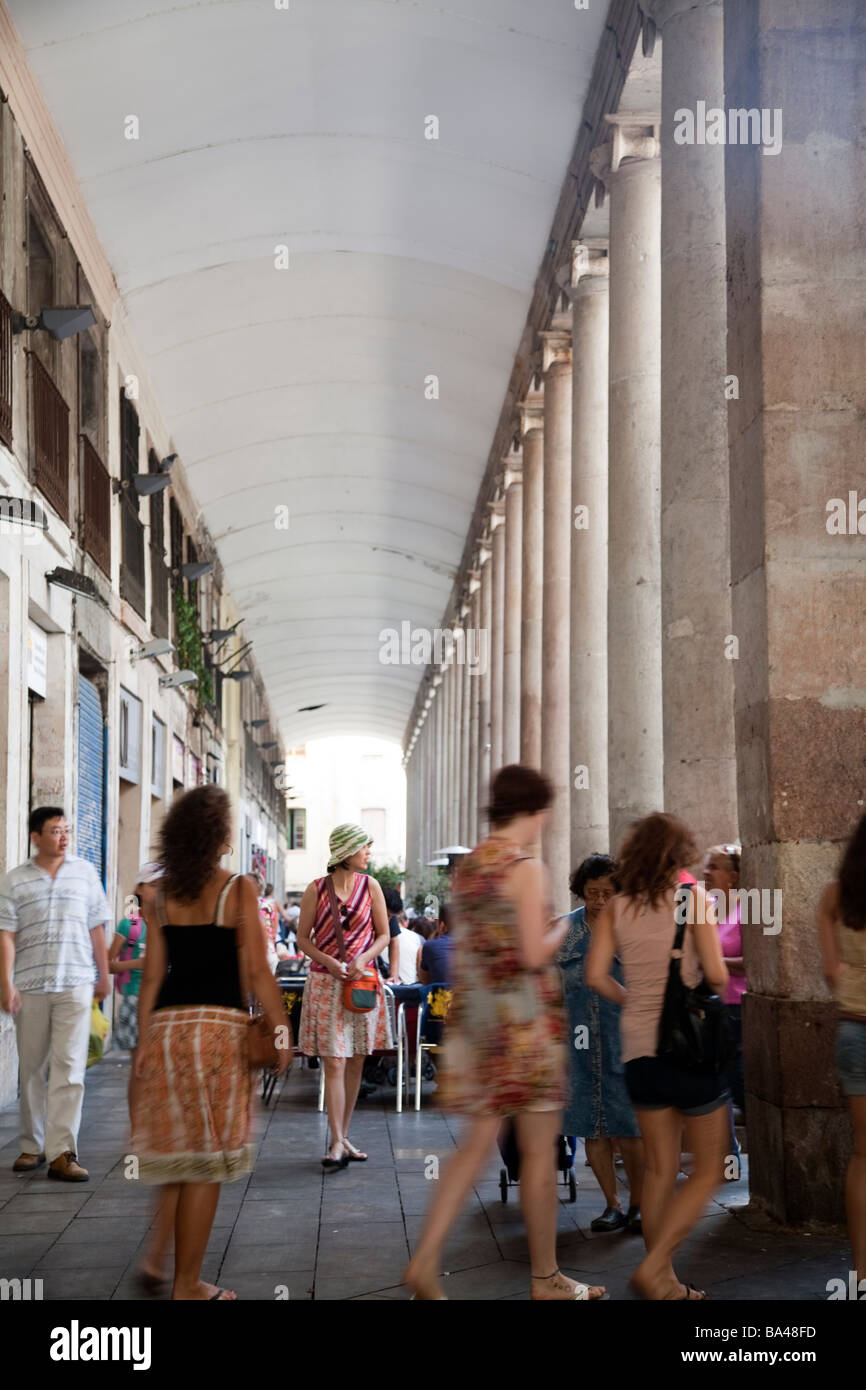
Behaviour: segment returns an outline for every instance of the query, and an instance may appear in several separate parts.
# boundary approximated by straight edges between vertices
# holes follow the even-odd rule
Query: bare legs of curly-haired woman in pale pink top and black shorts
[[[642,1111],[639,1118],[645,1113],[646,1111]],[[652,1113],[669,1115],[671,1112],[655,1111]],[[655,1291],[655,1295],[660,1298],[669,1297],[673,1293],[670,1276],[673,1273],[671,1261],[674,1252],[701,1218],[710,1197],[724,1179],[724,1155],[730,1129],[727,1105],[720,1105],[710,1115],[684,1118],[677,1111],[673,1115],[677,1116],[678,1122],[684,1122],[685,1145],[694,1156],[695,1166],[689,1179],[674,1190],[673,1197],[666,1205],[659,1209],[653,1198],[646,1258],[634,1275],[635,1283],[648,1297],[653,1297]],[[645,1212],[651,1180],[652,1169],[648,1162],[646,1191],[644,1197]],[[646,1229],[646,1216],[644,1216],[644,1227]],[[674,1282],[678,1284],[676,1276]]]

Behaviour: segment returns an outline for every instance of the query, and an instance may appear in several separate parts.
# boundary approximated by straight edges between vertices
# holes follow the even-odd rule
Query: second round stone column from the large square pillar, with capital
[[[659,546],[657,122],[606,117],[591,156],[610,190],[607,784],[610,848],[664,801]]]

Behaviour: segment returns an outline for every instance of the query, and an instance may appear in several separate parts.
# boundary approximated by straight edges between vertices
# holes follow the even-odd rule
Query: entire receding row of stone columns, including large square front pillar
[[[752,1195],[837,1219],[848,1129],[815,906],[866,805],[865,528],[859,510],[847,535],[826,524],[828,499],[859,496],[866,417],[856,25],[847,0],[642,11],[660,115],[609,115],[592,154],[609,236],[573,247],[478,538],[468,753],[449,752],[442,685],[410,734],[409,865],[457,830],[471,845],[517,756],[556,790],[559,910],[569,870],[649,810],[702,848],[740,826],[744,885],[784,901],[744,931]],[[784,147],[678,143],[681,108],[726,101],[794,113]]]

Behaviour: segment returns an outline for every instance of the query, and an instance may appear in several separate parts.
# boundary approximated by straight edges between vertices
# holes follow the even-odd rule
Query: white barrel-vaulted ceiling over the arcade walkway
[[[606,4],[7,6],[286,738],[400,738]]]

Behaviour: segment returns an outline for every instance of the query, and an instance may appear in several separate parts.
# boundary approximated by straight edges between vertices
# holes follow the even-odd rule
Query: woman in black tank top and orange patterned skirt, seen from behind
[[[220,787],[179,796],[163,823],[163,877],[145,909],[133,1152],[142,1180],[165,1184],[157,1223],[174,1226],[172,1298],[185,1300],[235,1297],[202,1280],[202,1259],[220,1184],[253,1166],[245,994],[274,1030],[285,1024],[256,891],[220,867],[229,833]],[[277,1055],[284,1072],[291,1048]]]

